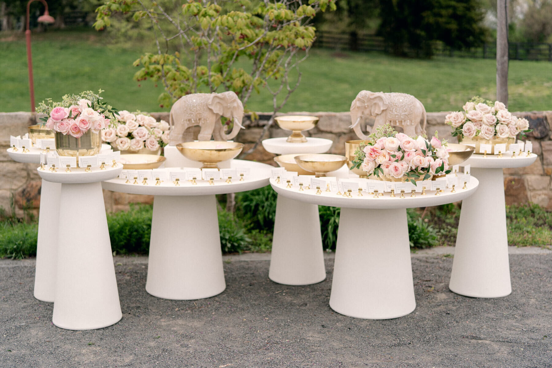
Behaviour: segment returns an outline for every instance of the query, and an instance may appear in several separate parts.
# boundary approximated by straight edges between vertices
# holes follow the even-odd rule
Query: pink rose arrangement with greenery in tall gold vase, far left
[[[100,151],[100,131],[109,126],[117,111],[102,101],[102,92],[87,90],[66,94],[61,102],[49,98],[39,104],[36,111],[47,115],[41,118],[42,125],[54,130],[60,156],[91,156]]]

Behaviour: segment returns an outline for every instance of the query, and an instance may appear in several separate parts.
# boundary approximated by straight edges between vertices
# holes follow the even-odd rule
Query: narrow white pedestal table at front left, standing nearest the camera
[[[110,326],[122,314],[100,182],[117,177],[123,165],[37,170],[47,182],[61,183],[52,322],[72,330]]]

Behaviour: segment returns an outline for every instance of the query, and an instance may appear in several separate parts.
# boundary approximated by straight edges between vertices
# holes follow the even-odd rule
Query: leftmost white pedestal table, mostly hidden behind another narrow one
[[[110,150],[111,146],[102,145],[102,151]],[[8,148],[8,156],[13,161],[40,164],[40,153],[43,150],[29,148],[23,153],[19,148],[13,151]],[[54,302],[56,288],[57,263],[57,218],[60,204],[60,183],[42,180],[40,188],[40,207],[38,216],[38,239],[36,242],[36,266],[34,297],[44,302]]]

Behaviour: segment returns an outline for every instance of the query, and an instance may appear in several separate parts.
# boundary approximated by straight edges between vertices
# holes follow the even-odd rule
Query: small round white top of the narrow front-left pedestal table
[[[47,167],[44,170],[40,170],[40,167],[36,169],[41,178],[47,182],[62,183],[62,184],[83,184],[83,183],[97,183],[104,180],[113,179],[119,176],[123,171],[123,164],[117,163],[116,167],[106,165],[105,169],[99,167],[91,168],[91,172],[84,171],[85,168],[71,168],[71,172],[65,171],[65,168],[57,168],[56,172],[51,172]]]

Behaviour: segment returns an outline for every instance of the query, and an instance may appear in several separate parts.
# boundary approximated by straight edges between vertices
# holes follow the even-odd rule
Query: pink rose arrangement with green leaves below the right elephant
[[[353,168],[368,173],[369,179],[389,181],[428,180],[433,175],[449,174],[447,141],[435,136],[427,140],[397,133],[389,124],[376,129],[355,152]]]

